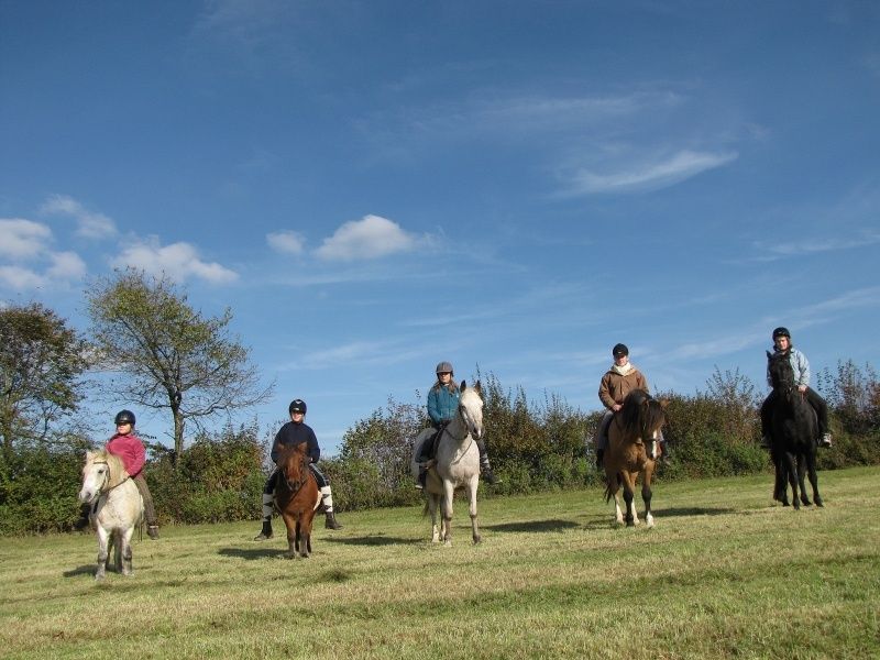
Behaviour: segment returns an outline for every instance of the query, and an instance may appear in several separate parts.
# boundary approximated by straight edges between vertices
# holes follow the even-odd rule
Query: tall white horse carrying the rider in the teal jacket
[[[474,543],[480,542],[480,528],[476,524],[476,486],[480,483],[480,451],[476,440],[483,436],[483,398],[480,381],[471,388],[461,382],[459,409],[452,421],[443,429],[437,443],[437,458],[429,463],[425,481],[428,496],[428,510],[431,514],[431,542],[441,538],[447,546],[452,544],[452,496],[455,491],[468,493],[471,510],[471,531]],[[417,437],[410,459],[410,471],[416,477],[419,473],[418,457],[424,442],[430,441],[433,429],[425,429]],[[437,526],[437,507],[440,505],[442,521]]]

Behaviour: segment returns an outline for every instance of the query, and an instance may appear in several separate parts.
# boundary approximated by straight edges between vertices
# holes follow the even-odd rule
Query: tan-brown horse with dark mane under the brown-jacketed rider
[[[634,389],[624,406],[608,425],[608,448],[603,455],[605,468],[605,502],[614,497],[615,520],[627,527],[639,524],[636,513],[636,481],[641,476],[641,499],[645,502],[645,522],[653,527],[651,515],[651,477],[654,461],[660,457],[660,429],[666,424],[668,402],[652,398],[644,389]],[[626,518],[620,512],[617,492],[624,488]]]

